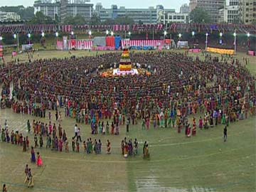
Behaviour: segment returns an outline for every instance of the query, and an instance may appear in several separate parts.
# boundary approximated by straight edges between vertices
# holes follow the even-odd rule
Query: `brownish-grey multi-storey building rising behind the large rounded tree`
[[[223,8],[225,0],[190,0],[189,9],[193,11],[196,7],[207,11],[213,22],[218,22],[219,9]]]

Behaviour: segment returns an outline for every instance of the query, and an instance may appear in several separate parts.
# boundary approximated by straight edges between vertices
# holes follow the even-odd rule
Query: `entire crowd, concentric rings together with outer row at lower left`
[[[221,55],[219,61],[208,53],[205,60],[171,52],[131,56],[151,75],[102,78],[103,71],[117,65],[119,53],[7,65],[0,70],[1,107],[45,118],[48,111],[49,124],[32,123],[34,147],[43,147],[46,137],[46,147],[53,151],[63,151],[63,146],[68,151],[60,108],[65,117],[77,122],[75,136],[71,137],[73,151],[79,151],[82,142],[78,124],[90,124],[91,134],[118,135],[119,126],[126,124],[129,133],[129,124],[141,122],[142,129],[151,125],[154,129],[175,127],[181,133],[184,127],[186,137],[191,137],[196,135],[197,127],[228,126],[255,115],[255,77],[237,59]],[[52,112],[58,128],[51,124]],[[196,119],[198,113],[203,115]],[[192,125],[189,115],[193,116]],[[31,123],[27,124],[30,132]],[[8,130],[1,129],[1,140],[23,145],[23,151],[27,151],[28,137],[18,131],[9,134]],[[87,154],[101,153],[100,140],[88,138],[82,144]],[[106,146],[110,153],[110,141]],[[123,141],[122,154],[137,154],[136,144]]]

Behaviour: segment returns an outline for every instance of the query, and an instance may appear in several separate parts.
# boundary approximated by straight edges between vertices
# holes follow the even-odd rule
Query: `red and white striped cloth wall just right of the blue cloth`
[[[122,40],[122,48],[124,48],[124,46],[163,47],[164,40]]]

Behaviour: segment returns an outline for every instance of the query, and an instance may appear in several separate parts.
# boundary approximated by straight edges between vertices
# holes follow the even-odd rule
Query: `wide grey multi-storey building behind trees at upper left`
[[[59,16],[63,22],[67,16],[80,15],[87,21],[92,17],[93,4],[87,4],[90,0],[39,0],[35,1],[33,6],[35,14],[38,11],[43,12],[44,15],[55,19]]]

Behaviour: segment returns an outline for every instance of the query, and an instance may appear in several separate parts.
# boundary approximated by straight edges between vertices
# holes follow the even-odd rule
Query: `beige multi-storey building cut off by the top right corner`
[[[240,0],[239,14],[242,23],[256,24],[256,0]]]

